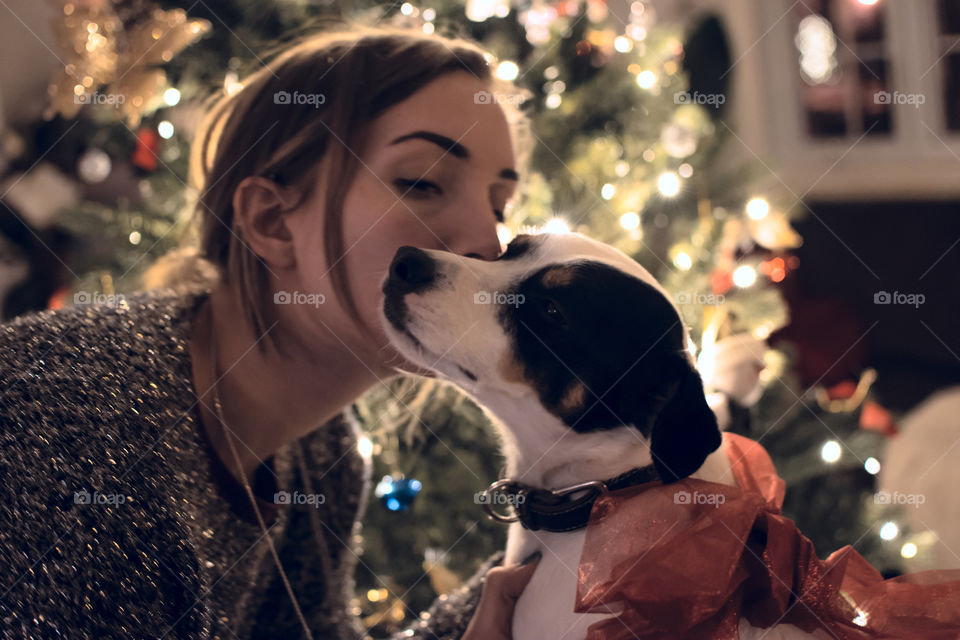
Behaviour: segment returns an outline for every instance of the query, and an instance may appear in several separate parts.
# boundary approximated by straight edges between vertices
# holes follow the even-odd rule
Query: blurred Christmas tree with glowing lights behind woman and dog
[[[803,366],[815,328],[781,295],[805,259],[788,222],[795,203],[761,187],[756,167],[724,158],[730,58],[709,17],[661,24],[642,0],[65,4],[56,45],[74,68],[51,79],[47,119],[4,145],[12,173],[43,158],[74,187],[61,224],[84,248],[66,257],[78,278],[47,305],[73,291],[136,289],[188,231],[187,156],[204,98],[236,91],[304,25],[344,16],[465,35],[492,51],[497,76],[529,92],[534,137],[502,240],[573,230],[635,257],[676,296],[721,422],[771,453],[787,482],[784,513],[821,556],[852,544],[896,573],[901,556],[924,552],[874,499],[891,418],[870,404],[871,373],[854,362],[824,388],[826,373]],[[768,349],[773,340],[781,350]],[[357,410],[383,480],[364,523],[354,612],[380,637],[503,547],[505,529],[478,499],[501,460],[486,415],[451,387],[396,380]]]

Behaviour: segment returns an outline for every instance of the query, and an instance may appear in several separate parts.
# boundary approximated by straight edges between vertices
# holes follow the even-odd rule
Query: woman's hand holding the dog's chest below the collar
[[[495,567],[487,572],[480,604],[462,640],[510,640],[513,608],[540,563],[537,551],[516,567]]]

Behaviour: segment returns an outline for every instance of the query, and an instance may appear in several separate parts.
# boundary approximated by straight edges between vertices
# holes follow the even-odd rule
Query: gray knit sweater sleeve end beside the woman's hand
[[[394,634],[391,640],[454,640],[463,637],[480,602],[483,579],[490,569],[503,564],[503,555],[502,551],[498,551],[490,556],[464,585],[437,598],[419,622]]]

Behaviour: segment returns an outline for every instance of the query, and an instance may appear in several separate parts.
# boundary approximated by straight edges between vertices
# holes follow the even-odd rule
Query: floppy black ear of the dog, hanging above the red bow
[[[663,367],[663,394],[652,418],[650,453],[664,483],[695,472],[720,446],[717,418],[707,405],[700,374],[685,354],[671,354]]]

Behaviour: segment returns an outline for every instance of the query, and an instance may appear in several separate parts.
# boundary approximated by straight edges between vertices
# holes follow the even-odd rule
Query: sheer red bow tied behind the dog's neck
[[[780,513],[766,450],[723,438],[736,487],[688,478],[597,500],[575,611],[620,613],[587,640],[730,640],[741,617],[817,638],[960,638],[960,570],[884,580],[850,546],[820,560]]]

